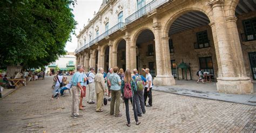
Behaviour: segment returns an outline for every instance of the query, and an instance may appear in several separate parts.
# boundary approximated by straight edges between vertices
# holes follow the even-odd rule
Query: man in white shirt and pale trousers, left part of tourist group
[[[93,67],[90,68],[90,72],[87,73],[87,77],[88,77],[88,86],[89,87],[89,94],[88,94],[88,103],[89,104],[94,104],[95,102],[93,101],[93,97],[95,95],[95,75],[93,74],[93,72],[95,71],[95,69]]]

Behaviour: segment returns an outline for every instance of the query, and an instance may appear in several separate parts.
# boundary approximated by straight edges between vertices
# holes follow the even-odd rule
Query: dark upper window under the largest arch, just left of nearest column
[[[207,48],[207,47],[210,47],[207,31],[198,32],[197,43],[194,43],[194,48],[199,49],[199,48]]]

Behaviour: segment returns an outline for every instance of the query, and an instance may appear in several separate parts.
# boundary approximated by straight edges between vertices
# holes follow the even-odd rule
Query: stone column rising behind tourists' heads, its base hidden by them
[[[131,38],[128,32],[125,33],[125,64],[126,64],[126,69],[134,69],[133,67],[133,61],[134,61],[134,56],[135,56],[135,65],[136,65],[136,49],[135,49],[135,54],[134,54],[134,48],[131,46]],[[136,67],[135,67],[136,68]],[[124,70],[125,71],[125,70]]]

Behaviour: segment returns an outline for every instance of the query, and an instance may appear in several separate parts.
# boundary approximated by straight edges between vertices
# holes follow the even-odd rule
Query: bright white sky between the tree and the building
[[[75,20],[77,21],[76,35],[79,34],[80,29],[83,29],[84,24],[87,25],[87,21],[90,18],[92,20],[94,11],[98,12],[102,0],[77,0],[77,5],[73,8],[73,14],[75,15]],[[76,35],[72,35],[72,42],[67,42],[65,50],[69,52],[75,51],[77,48],[77,38]]]

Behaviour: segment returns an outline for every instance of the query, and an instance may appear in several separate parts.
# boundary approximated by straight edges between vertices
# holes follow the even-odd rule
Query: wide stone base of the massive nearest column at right
[[[253,93],[253,84],[249,77],[219,77],[217,80],[218,92],[232,94]]]

